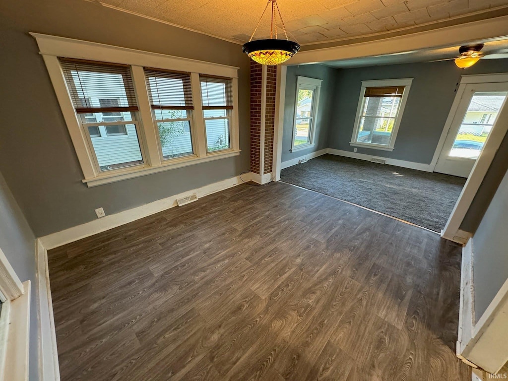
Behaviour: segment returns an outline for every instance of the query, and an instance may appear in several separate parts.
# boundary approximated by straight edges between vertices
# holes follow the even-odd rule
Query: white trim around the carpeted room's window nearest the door
[[[356,110],[355,128],[353,129],[353,135],[351,136],[350,145],[352,145],[354,147],[363,147],[363,148],[371,148],[371,149],[380,149],[380,150],[384,150],[384,151],[393,151],[393,149],[395,147],[395,140],[397,139],[397,134],[399,132],[400,121],[402,120],[402,116],[404,114],[404,108],[406,107],[407,96],[408,96],[409,90],[411,88],[412,80],[413,80],[413,78],[362,81],[362,88],[360,90],[360,98],[358,100],[358,107]],[[392,135],[390,136],[390,142],[388,145],[357,142],[356,139],[358,136],[358,129],[360,128],[360,120],[361,120],[361,113],[363,110],[365,89],[367,87],[385,87],[385,86],[405,86],[404,92],[402,93],[402,98],[400,100],[399,109],[397,110],[397,115],[395,116],[395,124],[393,126]]]

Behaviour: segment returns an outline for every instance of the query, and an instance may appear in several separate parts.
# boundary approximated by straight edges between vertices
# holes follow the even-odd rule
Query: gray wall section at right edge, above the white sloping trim
[[[508,172],[473,235],[474,309],[480,319],[508,278]]]

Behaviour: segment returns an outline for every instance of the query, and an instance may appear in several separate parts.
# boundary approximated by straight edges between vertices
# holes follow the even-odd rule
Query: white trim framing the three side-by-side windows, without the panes
[[[88,186],[96,186],[127,178],[143,176],[150,173],[166,171],[188,165],[218,160],[240,154],[239,147],[239,118],[238,118],[238,69],[237,67],[220,65],[194,59],[169,56],[165,54],[145,52],[135,49],[116,47],[88,41],[74,40],[63,37],[48,36],[30,33],[37,40],[40,54],[43,56],[56,97],[66,121],[71,140],[78,156],[84,179]],[[138,139],[143,153],[143,165],[126,167],[107,172],[99,172],[95,163],[95,155],[89,146],[88,134],[83,131],[74,105],[69,97],[67,84],[58,61],[58,57],[80,58],[95,61],[106,61],[130,65],[132,78],[138,100],[139,111],[136,127]],[[176,157],[163,160],[160,143],[157,138],[157,124],[152,117],[151,107],[146,89],[144,67],[167,70],[184,71],[191,73],[193,98],[195,101],[193,138],[194,155]],[[206,151],[204,119],[201,107],[201,85],[199,74],[208,74],[232,78],[233,80],[233,110],[230,122],[231,148],[217,153]],[[199,102],[198,102],[199,100]],[[151,127],[150,127],[151,126]]]

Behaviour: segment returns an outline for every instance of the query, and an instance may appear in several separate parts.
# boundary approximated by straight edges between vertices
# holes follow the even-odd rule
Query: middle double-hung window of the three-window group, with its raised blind
[[[145,68],[146,87],[164,160],[194,154],[190,73]]]

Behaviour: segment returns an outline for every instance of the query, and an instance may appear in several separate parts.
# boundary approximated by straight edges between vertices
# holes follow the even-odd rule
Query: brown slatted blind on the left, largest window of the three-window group
[[[59,61],[78,114],[138,111],[128,65],[61,57]],[[117,102],[114,106],[104,107],[101,99]]]

